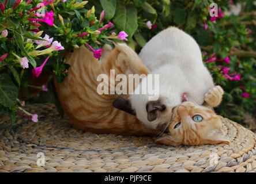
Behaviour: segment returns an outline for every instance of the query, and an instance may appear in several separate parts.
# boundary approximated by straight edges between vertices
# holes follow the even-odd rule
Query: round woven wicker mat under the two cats
[[[53,104],[25,109],[39,114],[39,122],[17,117],[11,125],[0,118],[0,172],[256,172],[255,134],[226,118],[229,145],[170,147],[153,137],[74,129]],[[39,153],[44,166],[37,166]]]

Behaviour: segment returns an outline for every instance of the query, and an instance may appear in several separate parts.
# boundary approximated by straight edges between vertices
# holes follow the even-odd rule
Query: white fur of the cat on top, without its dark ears
[[[146,112],[149,95],[130,95],[138,119],[150,128],[155,129],[157,124],[170,120],[171,110],[182,103],[183,93],[189,95],[190,101],[201,105],[204,95],[214,87],[198,44],[178,28],[170,27],[158,33],[146,43],[139,56],[150,74],[160,75],[159,96],[167,106],[159,118],[149,122]]]

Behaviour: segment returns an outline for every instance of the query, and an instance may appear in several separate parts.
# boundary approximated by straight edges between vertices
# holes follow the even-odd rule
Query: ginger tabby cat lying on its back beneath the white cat
[[[90,52],[86,47],[82,46],[75,49],[74,52],[67,52],[65,57],[67,63],[70,64],[68,76],[61,84],[58,84],[55,81],[55,87],[63,110],[65,111],[69,122],[71,122],[74,127],[94,133],[115,133],[118,135],[155,136],[160,133],[155,129],[146,127],[137,119],[137,117],[131,115],[133,112],[126,113],[122,110],[114,108],[112,106],[112,102],[118,98],[118,95],[100,95],[97,93],[97,86],[100,83],[100,81],[97,81],[97,76],[99,74],[106,74],[110,76],[111,69],[115,70],[115,75],[147,75],[149,73],[148,68],[131,48],[125,44],[117,44],[114,49],[112,49],[109,45],[105,45],[103,47],[101,59],[97,60],[95,57],[93,57],[92,52]],[[223,90],[221,87],[216,86],[205,94],[205,101],[207,104],[219,104],[222,94]],[[127,98],[128,95],[123,95],[122,97]],[[183,102],[182,105],[193,108],[193,103],[191,102]],[[171,134],[164,134],[164,136],[169,136],[157,140],[156,143],[168,145],[197,145],[214,144],[220,143],[221,141],[226,141],[224,138],[216,140],[216,137],[220,137],[221,132],[220,118],[218,118],[212,110],[206,107],[194,105],[195,109],[200,109],[200,107],[202,111],[200,114],[204,115],[209,113],[214,117],[210,120],[211,123],[206,124],[206,121],[208,120],[205,117],[208,117],[208,115],[205,115],[202,131],[199,130],[200,127],[195,125],[195,127],[199,129],[197,130],[198,133],[194,133],[194,127],[191,125],[190,127],[187,126],[187,128],[191,129],[191,136],[190,131],[178,131],[175,133],[175,136],[173,136],[174,134],[172,133],[172,128],[173,125],[178,121],[182,123],[181,127],[184,127],[183,129],[187,130],[185,128],[185,122],[182,119],[182,114],[178,113],[182,110],[183,106],[178,106],[176,107],[176,114],[179,115],[175,115],[174,113],[171,121],[170,119],[168,120],[171,122],[171,124],[168,124],[168,121],[164,124],[164,128],[166,129],[168,126],[167,131],[169,131]],[[186,113],[183,114],[184,116],[187,116]],[[220,130],[220,132],[214,131],[216,130],[213,126],[214,124],[216,124],[216,128]],[[162,129],[163,128],[159,128],[160,131]],[[206,134],[209,132],[212,134],[211,136],[207,137]],[[194,139],[194,136],[198,136],[198,138]],[[176,137],[178,138],[176,139]],[[187,140],[187,137],[191,137],[191,140]],[[205,137],[207,137],[207,139]]]

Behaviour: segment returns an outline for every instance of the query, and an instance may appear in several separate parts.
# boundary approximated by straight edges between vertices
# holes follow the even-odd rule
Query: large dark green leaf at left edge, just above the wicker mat
[[[7,74],[0,75],[0,104],[5,107],[16,105],[18,89]]]

